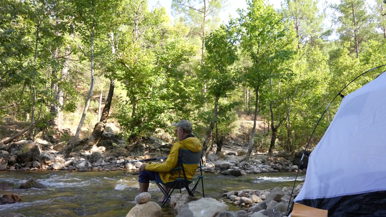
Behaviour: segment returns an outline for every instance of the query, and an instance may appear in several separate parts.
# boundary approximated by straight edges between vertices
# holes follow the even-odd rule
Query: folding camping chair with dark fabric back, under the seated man
[[[200,152],[192,152],[190,150],[186,149],[180,149],[178,151],[178,168],[174,168],[172,171],[178,171],[178,179],[168,182],[168,183],[163,183],[159,182],[156,180],[152,180],[152,182],[156,183],[158,188],[161,190],[161,192],[165,196],[165,200],[162,203],[162,206],[165,205],[165,203],[171,198],[171,194],[173,193],[174,189],[179,189],[179,193],[181,193],[181,189],[185,188],[188,191],[188,194],[191,197],[194,197],[194,193],[196,192],[196,188],[198,186],[198,183],[201,180],[201,185],[202,185],[202,197],[205,197],[204,195],[204,182],[203,182],[203,175],[202,175],[202,157],[201,157],[201,151]],[[186,178],[185,174],[185,169],[184,169],[184,164],[200,164],[200,176],[197,176],[193,178],[192,180],[188,180]],[[182,171],[182,176],[181,176],[181,171]],[[196,184],[193,186],[192,189],[189,188],[189,185],[193,183],[193,181],[196,181]],[[162,185],[168,186],[170,190],[168,192],[165,191]]]

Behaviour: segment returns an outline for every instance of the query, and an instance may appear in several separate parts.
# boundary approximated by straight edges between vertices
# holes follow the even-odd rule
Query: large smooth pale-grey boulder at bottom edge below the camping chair
[[[224,210],[229,210],[229,206],[213,198],[201,198],[183,205],[177,217],[215,217]]]

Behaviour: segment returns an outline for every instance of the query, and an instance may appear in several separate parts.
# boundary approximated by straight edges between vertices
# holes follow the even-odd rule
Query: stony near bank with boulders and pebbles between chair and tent
[[[151,195],[147,192],[135,197],[137,205],[126,217],[286,217],[287,209],[298,195],[303,184],[296,186],[291,197],[292,187],[271,188],[266,190],[244,189],[230,191],[223,189],[224,199],[196,198],[186,194],[172,195],[171,213],[162,213],[157,203],[149,202]],[[237,211],[232,207],[239,207]]]

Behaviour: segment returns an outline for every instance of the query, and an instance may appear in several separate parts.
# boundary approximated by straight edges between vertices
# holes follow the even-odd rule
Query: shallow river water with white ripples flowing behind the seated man
[[[221,190],[259,189],[292,186],[295,173],[260,173],[233,177],[217,174],[204,175],[206,197],[219,199]],[[46,189],[15,189],[0,191],[15,193],[22,197],[22,202],[0,205],[0,215],[17,212],[29,217],[51,216],[88,216],[88,217],[124,217],[134,206],[129,203],[139,193],[138,176],[125,171],[66,172],[47,173],[42,171],[0,172],[0,182],[8,181],[17,188],[28,178],[35,178]],[[301,183],[305,175],[298,178]],[[296,184],[297,185],[297,184]],[[198,190],[201,192],[201,186]],[[152,201],[162,196],[157,186],[150,184]],[[196,193],[198,196],[198,193]],[[202,195],[201,195],[202,196]]]

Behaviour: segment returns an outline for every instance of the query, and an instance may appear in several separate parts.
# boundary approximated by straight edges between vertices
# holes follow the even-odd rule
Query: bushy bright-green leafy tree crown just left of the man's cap
[[[170,25],[164,8],[148,11],[146,2],[132,1],[125,9],[116,53],[117,78],[128,100],[119,102],[117,116],[125,134],[137,139],[166,127],[167,113],[176,104],[172,96],[181,94],[175,92],[184,76],[178,68],[193,55],[193,47],[183,39],[187,29]]]

